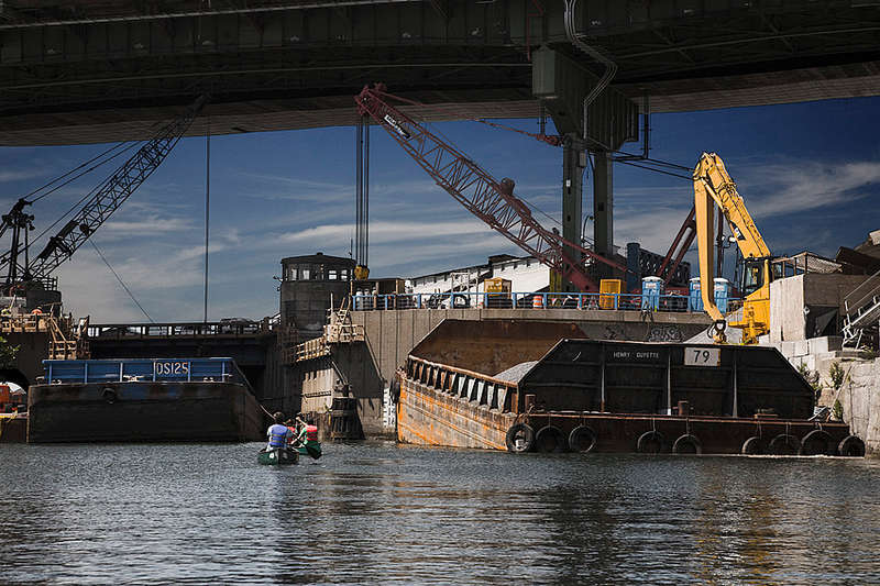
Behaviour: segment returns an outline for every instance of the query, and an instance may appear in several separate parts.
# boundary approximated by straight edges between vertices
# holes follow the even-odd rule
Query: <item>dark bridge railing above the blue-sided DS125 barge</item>
[[[89,338],[202,338],[202,336],[253,336],[274,331],[271,321],[230,320],[213,322],[167,323],[101,323],[88,327]]]

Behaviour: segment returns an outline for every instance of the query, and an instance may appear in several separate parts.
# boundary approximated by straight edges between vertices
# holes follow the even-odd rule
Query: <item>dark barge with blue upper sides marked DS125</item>
[[[28,442],[216,442],[263,438],[263,412],[232,358],[44,361]]]

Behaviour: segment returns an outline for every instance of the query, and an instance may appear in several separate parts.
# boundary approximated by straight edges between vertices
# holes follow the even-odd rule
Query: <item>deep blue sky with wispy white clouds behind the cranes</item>
[[[860,98],[654,114],[651,155],[693,166],[703,151],[718,153],[774,254],[806,248],[833,256],[880,229],[878,108],[880,98]],[[535,120],[512,124],[537,132]],[[561,150],[474,122],[432,128],[496,178],[514,178],[519,197],[560,217]],[[433,185],[382,130],[374,128],[371,137],[372,276],[415,276],[519,254]],[[0,210],[105,148],[0,148]],[[348,256],[354,155],[352,128],[211,139],[209,319],[275,313],[272,277],[285,256]],[[182,141],[92,236],[155,321],[202,316],[205,170],[205,139]],[[36,233],[102,177],[87,175],[37,202]],[[692,204],[690,183],[619,164],[614,181],[615,242],[640,241],[664,253]],[[584,211],[592,211],[590,188]],[[90,314],[92,322],[145,321],[91,246],[80,247],[57,276],[68,311]]]

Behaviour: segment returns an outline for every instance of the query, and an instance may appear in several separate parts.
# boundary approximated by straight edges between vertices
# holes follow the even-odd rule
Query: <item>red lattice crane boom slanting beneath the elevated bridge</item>
[[[598,287],[586,274],[584,263],[570,256],[566,248],[626,272],[614,261],[569,242],[556,230],[546,230],[531,217],[526,203],[514,195],[513,180],[495,180],[466,155],[435,136],[388,100],[420,106],[417,102],[387,93],[382,85],[364,87],[354,100],[361,115],[369,114],[385,129],[459,203],[539,262],[559,272],[579,290],[596,291]]]

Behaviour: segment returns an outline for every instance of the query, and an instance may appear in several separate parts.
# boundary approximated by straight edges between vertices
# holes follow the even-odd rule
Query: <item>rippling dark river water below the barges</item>
[[[0,445],[0,583],[880,583],[880,461]]]

